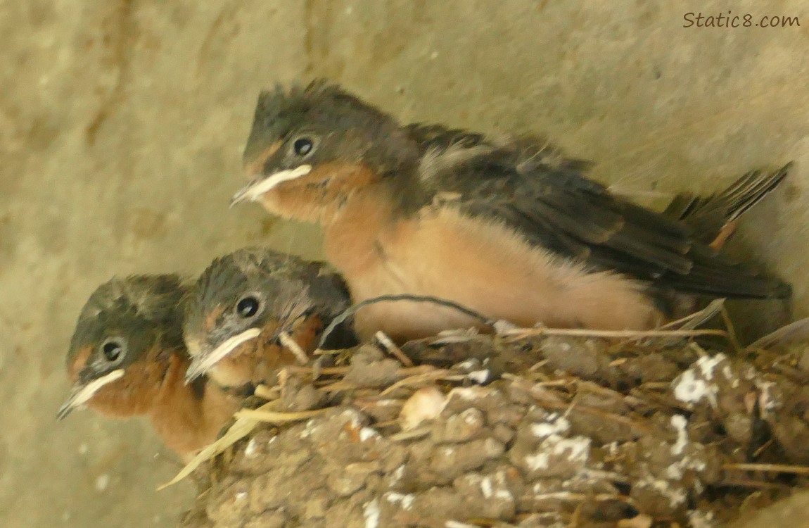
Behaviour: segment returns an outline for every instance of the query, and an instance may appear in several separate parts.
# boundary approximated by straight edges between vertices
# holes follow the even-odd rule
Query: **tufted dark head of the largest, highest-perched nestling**
[[[352,194],[414,166],[418,155],[392,117],[335,85],[276,87],[258,98],[244,151],[251,181],[232,203],[262,202],[285,218],[324,222]]]

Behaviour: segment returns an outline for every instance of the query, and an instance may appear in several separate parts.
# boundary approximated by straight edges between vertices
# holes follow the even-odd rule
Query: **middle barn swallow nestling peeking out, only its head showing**
[[[304,354],[314,351],[324,326],[349,304],[345,283],[322,262],[267,248],[217,258],[188,303],[186,381],[207,373],[222,387],[249,389],[295,363],[286,337]]]

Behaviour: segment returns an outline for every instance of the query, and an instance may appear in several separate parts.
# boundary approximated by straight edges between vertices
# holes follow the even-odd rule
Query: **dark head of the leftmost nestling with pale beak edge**
[[[176,275],[134,275],[98,287],[78,316],[67,353],[74,381],[57,419],[85,403],[136,415],[157,388],[168,356],[184,351]]]

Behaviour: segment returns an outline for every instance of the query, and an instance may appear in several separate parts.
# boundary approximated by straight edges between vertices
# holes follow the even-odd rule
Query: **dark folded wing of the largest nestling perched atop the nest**
[[[585,176],[587,163],[544,143],[480,140],[426,147],[419,182],[468,215],[513,228],[532,245],[595,269],[712,296],[786,296],[788,287],[735,265],[698,241],[687,224],[611,194]]]

